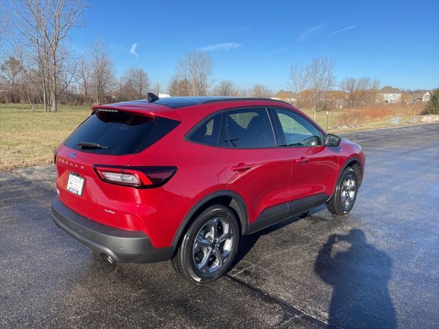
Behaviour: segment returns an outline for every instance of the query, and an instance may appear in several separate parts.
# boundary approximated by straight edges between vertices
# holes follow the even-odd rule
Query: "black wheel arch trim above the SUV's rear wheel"
[[[238,224],[241,229],[241,235],[244,234],[248,226],[248,210],[244,199],[241,195],[233,191],[217,191],[206,195],[189,210],[185,218],[180,223],[178,230],[172,240],[172,246],[176,247],[180,243],[180,239],[184,236],[187,228],[191,225],[195,217],[205,208],[213,204],[224,204],[230,207],[238,217]]]

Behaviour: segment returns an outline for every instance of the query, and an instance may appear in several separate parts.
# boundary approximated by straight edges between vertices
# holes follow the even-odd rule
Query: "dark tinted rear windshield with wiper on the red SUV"
[[[98,110],[67,137],[64,145],[95,154],[136,154],[156,143],[179,123],[132,112]]]

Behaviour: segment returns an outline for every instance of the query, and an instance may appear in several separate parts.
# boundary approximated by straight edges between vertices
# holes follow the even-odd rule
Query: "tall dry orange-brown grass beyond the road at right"
[[[364,108],[341,110],[333,118],[333,125],[359,125],[392,117],[416,117],[421,114],[425,114],[425,104],[422,103],[410,105],[372,103]]]

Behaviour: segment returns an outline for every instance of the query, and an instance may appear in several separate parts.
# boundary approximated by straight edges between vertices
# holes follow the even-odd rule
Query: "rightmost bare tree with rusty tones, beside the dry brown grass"
[[[378,80],[370,77],[346,77],[340,82],[340,89],[348,94],[348,101],[351,108],[357,108],[361,103],[368,103],[375,99],[379,88]]]

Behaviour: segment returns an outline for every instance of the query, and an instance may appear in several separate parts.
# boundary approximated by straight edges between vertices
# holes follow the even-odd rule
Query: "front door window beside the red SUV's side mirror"
[[[320,131],[307,119],[289,110],[274,110],[285,136],[283,146],[323,145]]]

